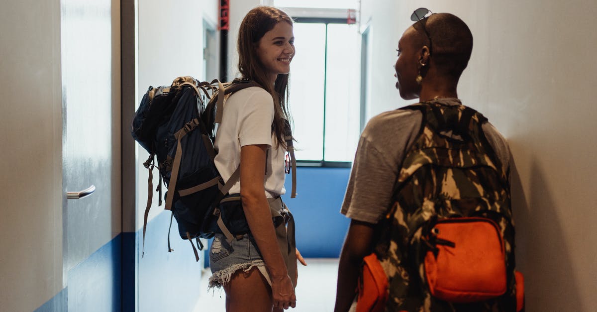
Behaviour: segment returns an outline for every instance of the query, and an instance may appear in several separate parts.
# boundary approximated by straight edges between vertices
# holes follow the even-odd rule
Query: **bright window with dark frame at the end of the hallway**
[[[276,5],[287,2],[291,1]],[[305,2],[309,1],[298,3]],[[347,15],[347,10],[340,11]],[[293,18],[297,51],[291,63],[289,105],[298,164],[350,166],[361,131],[358,26],[347,24],[346,17]]]

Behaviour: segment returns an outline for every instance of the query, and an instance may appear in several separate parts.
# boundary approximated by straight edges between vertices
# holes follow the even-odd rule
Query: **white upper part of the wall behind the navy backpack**
[[[152,85],[170,85],[174,78],[192,76],[203,79],[203,19],[217,19],[217,1],[184,0],[170,5],[169,1],[139,1],[139,52],[137,103]],[[209,10],[209,11],[208,11]],[[137,107],[136,106],[136,107]],[[137,230],[143,228],[143,212],[147,203],[147,169],[143,162],[149,156],[137,146]],[[153,189],[158,185],[158,170],[153,170]],[[167,189],[162,187],[162,191]],[[154,192],[150,218],[164,210],[158,207]]]

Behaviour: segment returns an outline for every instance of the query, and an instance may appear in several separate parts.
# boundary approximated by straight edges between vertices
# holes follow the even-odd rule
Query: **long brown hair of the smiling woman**
[[[256,7],[249,11],[242,20],[238,31],[238,71],[242,78],[257,82],[273,98],[273,123],[272,130],[276,134],[278,145],[286,147],[284,137],[290,134],[290,111],[287,97],[288,78],[290,74],[279,74],[272,85],[259,55],[257,46],[259,40],[266,32],[272,30],[276,24],[285,22],[293,25],[293,20],[284,11],[273,7]]]

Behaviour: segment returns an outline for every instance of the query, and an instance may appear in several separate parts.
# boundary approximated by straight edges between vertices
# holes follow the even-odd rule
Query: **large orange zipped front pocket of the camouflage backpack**
[[[435,249],[425,255],[424,273],[433,296],[448,302],[476,302],[506,292],[504,243],[495,222],[441,219],[429,235]]]

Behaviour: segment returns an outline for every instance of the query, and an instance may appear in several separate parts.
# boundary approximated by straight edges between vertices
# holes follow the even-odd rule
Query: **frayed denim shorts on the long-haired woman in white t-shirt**
[[[210,286],[221,287],[230,282],[232,274],[238,270],[245,272],[257,267],[267,280],[269,275],[265,270],[263,257],[257,248],[257,243],[251,234],[244,234],[228,241],[224,234],[216,234],[210,249]]]

